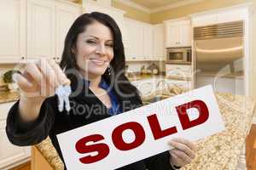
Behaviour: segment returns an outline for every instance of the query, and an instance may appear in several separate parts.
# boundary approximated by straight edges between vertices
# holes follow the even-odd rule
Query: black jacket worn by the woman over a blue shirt
[[[22,122],[18,108],[20,100],[18,100],[10,109],[7,118],[6,133],[9,141],[12,144],[24,146],[38,144],[49,136],[61,160],[64,162],[56,138],[58,133],[64,133],[73,128],[81,127],[111,116],[108,113],[108,108],[102,104],[102,101],[90,91],[90,88],[86,84],[81,84],[80,82],[83,81],[79,79],[72,80],[71,87],[73,94],[70,97],[72,109],[68,113],[66,111],[58,111],[57,97],[55,95],[44,100],[37,120],[33,122]],[[86,95],[84,95],[85,90],[88,92]],[[129,98],[118,96],[118,99],[124,112],[142,106],[142,100],[138,95]],[[85,106],[83,107],[85,110],[81,105]],[[92,113],[89,114],[89,111],[92,111]],[[148,148],[148,150],[151,149]],[[172,169],[169,158],[170,154],[166,151],[125,167],[120,167],[119,170],[145,170],[146,168],[148,170],[169,170]]]

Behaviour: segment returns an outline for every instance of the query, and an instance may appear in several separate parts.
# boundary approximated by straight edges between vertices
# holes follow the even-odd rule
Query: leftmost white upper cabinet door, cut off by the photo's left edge
[[[0,1],[0,63],[15,63],[26,55],[26,2]]]

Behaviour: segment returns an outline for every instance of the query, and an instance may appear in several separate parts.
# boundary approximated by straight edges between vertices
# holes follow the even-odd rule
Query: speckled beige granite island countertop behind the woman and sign
[[[195,160],[182,167],[182,170],[236,169],[252,123],[255,100],[240,95],[218,93],[216,98],[226,129],[222,133],[196,142]],[[36,146],[54,169],[63,169],[63,163],[49,138]]]

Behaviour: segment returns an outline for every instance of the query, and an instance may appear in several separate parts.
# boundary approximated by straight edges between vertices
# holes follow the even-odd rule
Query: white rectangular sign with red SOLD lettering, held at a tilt
[[[57,135],[67,169],[116,169],[224,130],[211,86]],[[118,161],[117,161],[118,160]]]

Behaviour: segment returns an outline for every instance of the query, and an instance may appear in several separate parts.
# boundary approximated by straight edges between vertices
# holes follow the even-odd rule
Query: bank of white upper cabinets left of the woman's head
[[[61,0],[8,0],[0,1],[0,14],[0,63],[41,57],[60,62],[67,31],[82,8]]]

